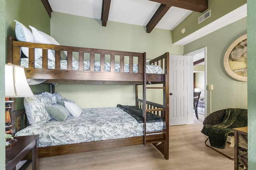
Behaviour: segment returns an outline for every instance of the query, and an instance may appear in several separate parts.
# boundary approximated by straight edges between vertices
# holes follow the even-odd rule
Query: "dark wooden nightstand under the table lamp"
[[[12,170],[16,164],[32,149],[32,169],[38,170],[38,137],[39,135],[14,137],[17,143],[5,149],[5,168]]]

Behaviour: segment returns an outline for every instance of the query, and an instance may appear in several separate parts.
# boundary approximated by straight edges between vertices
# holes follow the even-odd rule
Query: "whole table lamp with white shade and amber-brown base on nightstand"
[[[10,108],[11,103],[9,98],[21,98],[21,97],[34,97],[26,76],[24,68],[14,64],[5,64],[5,133],[12,133]],[[6,146],[13,145],[17,140],[9,139],[6,141]]]

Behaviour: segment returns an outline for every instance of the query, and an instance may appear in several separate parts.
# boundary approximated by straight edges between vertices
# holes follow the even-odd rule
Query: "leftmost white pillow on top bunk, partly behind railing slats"
[[[14,20],[14,21],[16,22],[15,34],[16,34],[17,40],[23,41],[23,42],[35,43],[35,38],[32,32],[19,21],[17,20]],[[28,47],[21,47],[21,51],[24,53],[26,57],[28,57]],[[34,56],[35,56],[34,59],[41,58],[38,49],[34,50]]]

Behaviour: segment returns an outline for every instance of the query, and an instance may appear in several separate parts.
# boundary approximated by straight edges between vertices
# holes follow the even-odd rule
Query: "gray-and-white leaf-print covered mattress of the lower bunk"
[[[161,131],[163,122],[146,124],[146,131]],[[43,125],[30,125],[15,136],[39,135],[39,147],[120,139],[143,135],[143,123],[118,107],[84,108],[80,117],[66,121],[51,119]]]

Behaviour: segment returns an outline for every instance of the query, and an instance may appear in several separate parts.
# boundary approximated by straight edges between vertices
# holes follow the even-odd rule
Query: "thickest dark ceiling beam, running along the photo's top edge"
[[[176,6],[196,12],[204,12],[208,9],[208,0],[151,0],[168,6]]]

